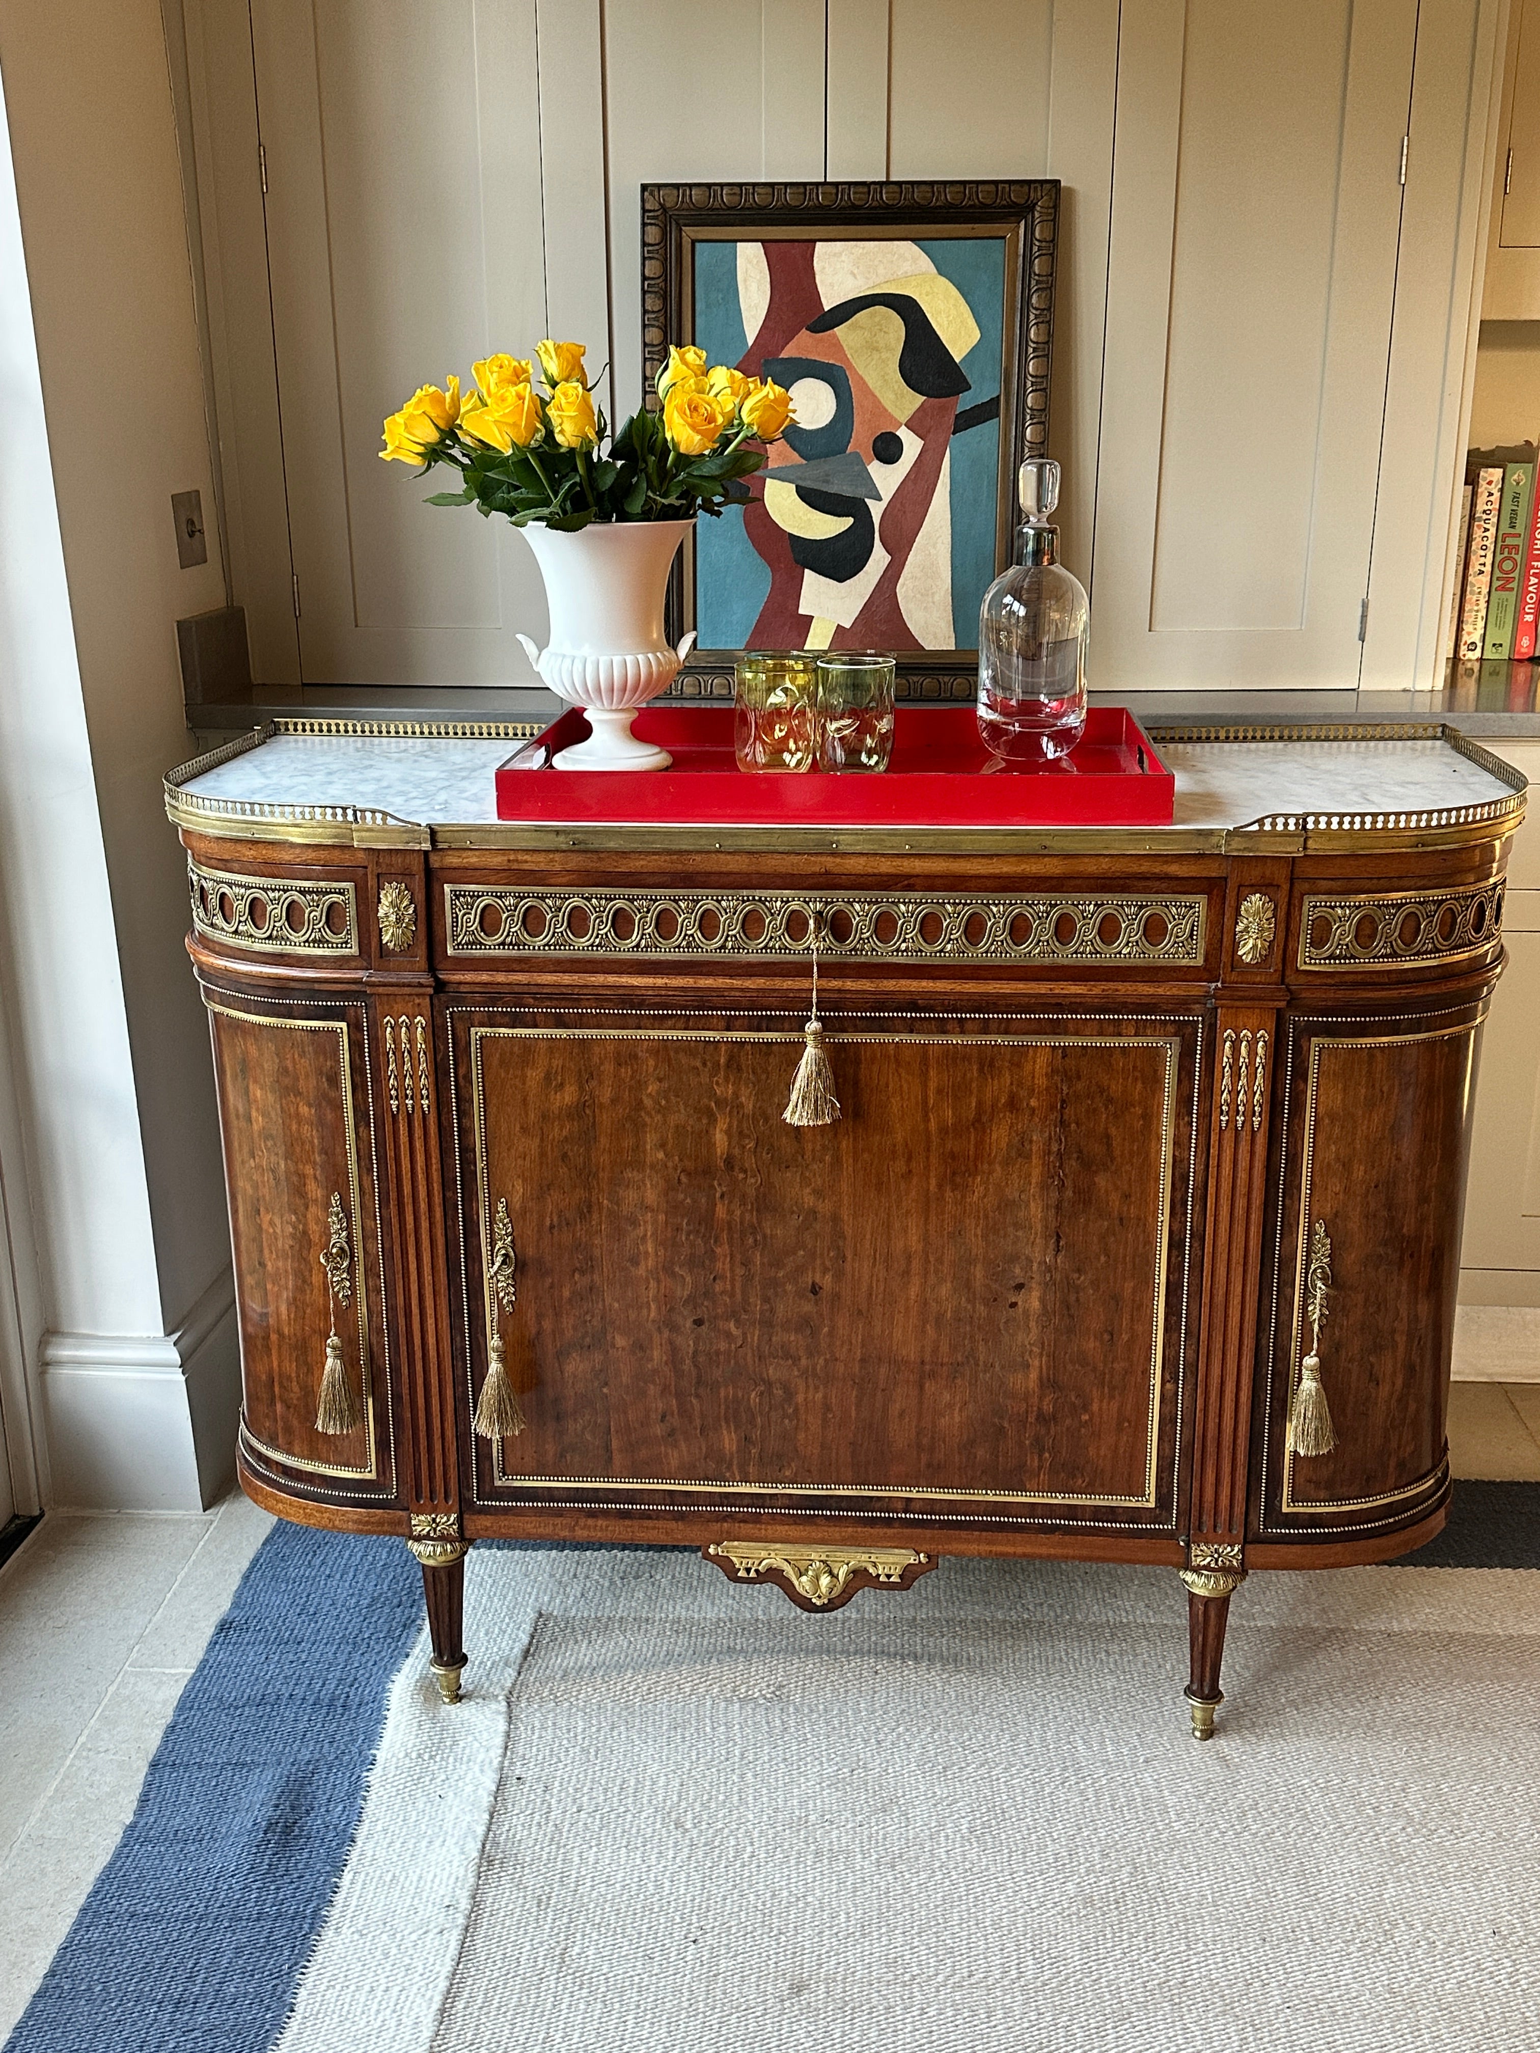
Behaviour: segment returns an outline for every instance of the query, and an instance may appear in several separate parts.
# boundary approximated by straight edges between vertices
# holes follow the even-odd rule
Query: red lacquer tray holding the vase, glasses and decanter
[[[559,770],[589,727],[573,708],[497,772],[497,817],[743,827],[1164,827],[1177,780],[1123,706],[1092,706],[1060,762],[1006,770],[971,706],[899,706],[881,774],[743,772],[731,706],[643,706],[632,725],[671,770]]]

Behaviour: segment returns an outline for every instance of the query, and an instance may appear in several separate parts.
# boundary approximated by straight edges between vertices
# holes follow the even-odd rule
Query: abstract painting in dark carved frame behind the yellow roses
[[[671,698],[731,698],[743,649],[885,649],[901,698],[965,700],[1047,454],[1057,181],[645,185],[643,370],[696,343],[791,390],[747,499],[696,524]]]

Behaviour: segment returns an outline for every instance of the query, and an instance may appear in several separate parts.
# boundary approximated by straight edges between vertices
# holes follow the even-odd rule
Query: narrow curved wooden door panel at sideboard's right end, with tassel
[[[1267,1534],[1396,1525],[1443,1486],[1478,1033],[1476,1006],[1289,1022],[1261,1326]],[[1289,1447],[1287,1417],[1314,1341],[1318,1228],[1331,1261],[1318,1357],[1337,1445],[1306,1458]]]

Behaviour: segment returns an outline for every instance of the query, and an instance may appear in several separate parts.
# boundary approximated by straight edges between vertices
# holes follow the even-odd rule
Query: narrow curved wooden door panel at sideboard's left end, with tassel
[[[283,1488],[394,1501],[390,1380],[361,1004],[265,1008],[205,985],[240,1322],[242,1451]],[[333,1199],[337,1213],[333,1213]],[[322,1252],[341,1217],[337,1334],[361,1423],[316,1429],[333,1304]]]

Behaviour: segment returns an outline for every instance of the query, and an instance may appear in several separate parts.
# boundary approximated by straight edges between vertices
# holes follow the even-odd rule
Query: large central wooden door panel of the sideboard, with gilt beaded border
[[[466,1408],[517,1248],[483,1503],[1172,1527],[1195,1018],[844,1014],[805,1131],[784,1014],[450,1020]]]

